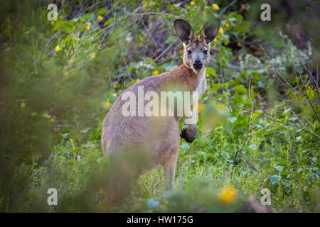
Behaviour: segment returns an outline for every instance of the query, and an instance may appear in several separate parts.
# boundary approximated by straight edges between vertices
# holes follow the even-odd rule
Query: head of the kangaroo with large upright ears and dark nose
[[[194,35],[193,29],[187,21],[177,19],[174,21],[176,35],[183,44],[183,63],[195,72],[206,68],[210,62],[210,43],[215,39],[220,28],[220,20],[213,18],[203,24],[198,37]]]

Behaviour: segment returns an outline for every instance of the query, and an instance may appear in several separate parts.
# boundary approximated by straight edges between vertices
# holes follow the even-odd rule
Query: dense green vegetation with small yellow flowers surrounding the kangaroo
[[[258,1],[66,2],[57,1],[57,21],[49,1],[0,6],[0,211],[244,211],[263,188],[277,211],[320,211],[316,29],[305,33],[313,43],[297,40],[262,23]],[[308,23],[319,21],[313,9]],[[181,64],[175,18],[198,33],[218,16],[198,135],[181,140],[176,190],[164,192],[159,167],[124,206],[110,206],[100,145],[108,109],[125,88]],[[48,206],[49,188],[58,206]]]

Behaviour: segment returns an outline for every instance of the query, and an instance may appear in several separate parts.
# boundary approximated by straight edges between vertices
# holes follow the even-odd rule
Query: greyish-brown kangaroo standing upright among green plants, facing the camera
[[[139,96],[139,87],[143,87],[144,92],[156,94],[163,91],[198,92],[199,97],[206,91],[210,43],[218,34],[220,20],[214,18],[204,23],[198,36],[194,35],[190,23],[183,19],[174,21],[174,28],[183,44],[183,64],[169,72],[146,77],[125,89],[114,101],[102,123],[102,150],[110,157],[112,190],[118,194],[123,195],[129,189],[132,179],[137,179],[158,165],[163,167],[165,188],[173,189],[180,138],[188,143],[196,138],[197,125],[195,121],[187,121],[190,116],[185,118],[187,128],[180,133],[181,116],[139,116],[137,109],[130,110],[132,116],[122,114],[127,100],[124,94],[132,92]],[[135,101],[139,102],[138,99]]]

